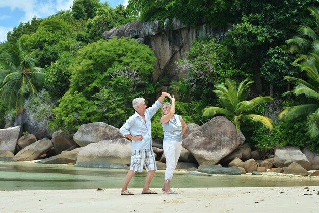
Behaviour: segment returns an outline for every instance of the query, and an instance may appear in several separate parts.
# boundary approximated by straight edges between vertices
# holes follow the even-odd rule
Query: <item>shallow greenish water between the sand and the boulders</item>
[[[0,190],[49,190],[83,188],[122,188],[128,170],[82,168],[64,164],[37,164],[27,162],[0,162]],[[146,172],[137,173],[129,188],[143,188]],[[164,171],[156,171],[151,188],[164,183]],[[171,186],[193,187],[270,187],[318,186],[319,179],[280,178],[240,175],[211,177],[175,172]]]

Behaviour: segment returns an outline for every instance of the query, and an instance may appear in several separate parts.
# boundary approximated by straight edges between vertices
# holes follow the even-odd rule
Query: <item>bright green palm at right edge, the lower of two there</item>
[[[314,100],[314,103],[286,107],[278,117],[290,121],[296,117],[307,115],[307,132],[311,138],[315,138],[319,135],[319,54],[310,53],[306,61],[296,64],[296,66],[306,73],[308,81],[286,76],[284,79],[295,82],[295,86],[293,90],[285,92],[283,95],[294,94],[300,96],[303,94],[305,97]]]

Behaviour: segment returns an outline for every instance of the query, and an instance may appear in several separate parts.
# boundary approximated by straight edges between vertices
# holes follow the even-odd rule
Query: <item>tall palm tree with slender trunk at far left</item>
[[[16,108],[18,124],[23,123],[24,101],[35,96],[44,81],[42,68],[35,67],[35,54],[24,54],[19,41],[6,44],[0,53],[1,98],[9,108]]]

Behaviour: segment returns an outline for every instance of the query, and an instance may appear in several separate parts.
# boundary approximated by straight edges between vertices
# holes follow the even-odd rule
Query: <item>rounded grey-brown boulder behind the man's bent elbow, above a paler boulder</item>
[[[73,140],[81,147],[102,140],[113,140],[117,138],[124,138],[120,133],[120,129],[103,122],[83,124],[73,136]]]

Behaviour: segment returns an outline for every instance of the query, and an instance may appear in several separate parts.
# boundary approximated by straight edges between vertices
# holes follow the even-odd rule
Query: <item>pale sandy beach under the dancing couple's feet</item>
[[[121,196],[120,189],[0,191],[1,213],[38,212],[319,212],[319,186],[174,188],[168,195]]]

